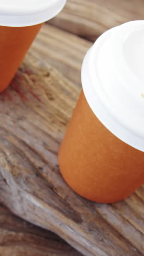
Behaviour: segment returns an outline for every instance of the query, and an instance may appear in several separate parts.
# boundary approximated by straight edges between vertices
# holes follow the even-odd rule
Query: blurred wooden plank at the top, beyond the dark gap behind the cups
[[[107,29],[130,20],[143,20],[143,0],[67,0],[48,23],[95,41]]]

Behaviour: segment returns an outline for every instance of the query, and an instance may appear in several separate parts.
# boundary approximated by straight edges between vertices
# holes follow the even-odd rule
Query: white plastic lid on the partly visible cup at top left
[[[50,20],[66,0],[4,0],[0,3],[0,26],[24,27]]]

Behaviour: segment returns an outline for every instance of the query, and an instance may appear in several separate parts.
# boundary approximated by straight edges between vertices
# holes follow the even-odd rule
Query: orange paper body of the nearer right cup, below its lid
[[[121,201],[144,183],[144,153],[117,138],[99,121],[83,91],[58,161],[69,186],[95,202]]]

